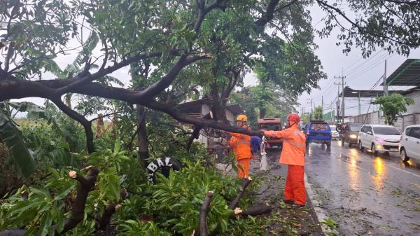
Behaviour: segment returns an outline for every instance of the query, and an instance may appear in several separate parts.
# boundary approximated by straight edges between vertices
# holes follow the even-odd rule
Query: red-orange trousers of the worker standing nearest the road
[[[294,201],[295,204],[306,203],[304,188],[304,167],[302,165],[288,165],[284,200]]]

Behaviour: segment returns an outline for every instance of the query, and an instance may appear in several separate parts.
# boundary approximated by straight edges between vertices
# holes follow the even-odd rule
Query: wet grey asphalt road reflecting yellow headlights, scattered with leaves
[[[305,168],[340,235],[420,235],[420,163],[333,141],[311,144]]]

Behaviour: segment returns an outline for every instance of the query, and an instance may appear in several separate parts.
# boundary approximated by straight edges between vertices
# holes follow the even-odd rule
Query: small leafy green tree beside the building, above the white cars
[[[394,93],[388,96],[381,96],[374,100],[373,104],[381,105],[380,110],[384,111],[385,123],[394,125],[398,120],[397,116],[407,111],[407,106],[414,104],[414,100],[409,97],[404,97],[400,94]]]

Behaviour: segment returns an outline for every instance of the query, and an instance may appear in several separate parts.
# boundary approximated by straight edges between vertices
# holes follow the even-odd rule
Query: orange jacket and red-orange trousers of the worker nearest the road
[[[284,200],[304,205],[306,203],[306,190],[304,188],[306,137],[299,130],[297,124],[293,124],[286,130],[265,131],[264,135],[283,139],[280,164],[288,165]]]

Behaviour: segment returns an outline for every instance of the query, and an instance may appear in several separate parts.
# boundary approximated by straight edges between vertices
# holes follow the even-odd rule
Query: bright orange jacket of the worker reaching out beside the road
[[[304,152],[306,151],[306,137],[299,130],[297,124],[281,131],[264,131],[266,137],[283,139],[283,149],[280,163],[286,165],[304,165]]]

